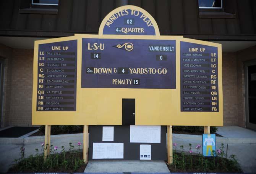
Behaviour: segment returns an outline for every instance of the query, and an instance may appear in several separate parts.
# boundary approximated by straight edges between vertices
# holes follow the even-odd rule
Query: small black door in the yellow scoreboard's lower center
[[[122,99],[122,125],[135,125],[135,99]]]

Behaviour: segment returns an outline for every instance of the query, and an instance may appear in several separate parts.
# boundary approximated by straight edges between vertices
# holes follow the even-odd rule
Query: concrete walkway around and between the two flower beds
[[[228,156],[234,154],[237,156],[239,163],[241,164],[241,168],[244,172],[255,172],[256,171],[256,132],[240,128],[238,126],[227,126],[227,127],[218,127],[218,134],[224,137],[217,137],[217,148],[220,147],[221,143],[224,144],[224,147],[227,147],[228,144]],[[78,142],[83,142],[83,134],[66,134],[66,135],[53,135],[51,136],[51,144],[54,146],[65,146],[65,149],[69,149],[69,143],[72,142],[73,145],[77,147]],[[20,158],[19,152],[20,148],[24,145],[25,155],[29,156],[31,154],[35,154],[35,148],[41,149],[41,143],[44,142],[44,136],[38,137],[22,137],[22,138],[0,138],[0,173],[7,172],[8,168],[11,166],[12,162],[15,159]],[[185,134],[173,134],[173,143],[177,143],[177,150],[179,150],[180,145],[184,145],[184,150],[189,151],[188,143],[192,144],[193,151],[196,152],[196,145],[202,145],[202,136],[198,135],[185,135]],[[59,151],[60,152],[60,151]],[[107,163],[106,161],[103,161]],[[122,161],[118,161],[120,163]],[[145,161],[151,162],[151,161]],[[152,164],[155,161],[152,161]],[[162,161],[160,164],[164,164]],[[130,172],[160,172],[163,167],[154,168],[154,170],[147,170],[144,166],[151,166],[151,163],[143,163],[142,161],[129,161],[129,163],[134,163],[132,166],[128,167],[128,161],[123,161],[123,166],[127,168],[118,169],[116,172],[130,171]],[[136,164],[135,164],[136,163]],[[93,165],[89,165],[93,164]],[[86,170],[88,172],[111,172],[106,169],[98,168],[97,164],[100,164],[98,161],[90,161],[87,165]],[[142,165],[143,164],[143,165]],[[108,164],[115,165],[114,163]],[[118,164],[120,165],[120,164]],[[91,167],[90,167],[91,166]],[[165,165],[166,166],[166,165]],[[144,168],[144,170],[142,170]],[[150,168],[150,167],[149,167]],[[94,170],[93,170],[94,169]],[[126,170],[128,169],[128,170]],[[85,171],[86,171],[85,170]]]

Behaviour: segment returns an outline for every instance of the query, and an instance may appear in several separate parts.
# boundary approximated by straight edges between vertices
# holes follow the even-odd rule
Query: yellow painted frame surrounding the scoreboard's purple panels
[[[221,44],[160,35],[102,35],[104,22],[112,13],[125,8],[143,11],[159,32],[156,21],[145,10],[136,6],[122,6],[110,12],[102,21],[99,35],[75,34],[71,37],[35,41],[32,125],[122,125],[122,98],[136,99],[136,125],[223,126],[222,50]],[[157,32],[157,34],[158,34]],[[83,38],[147,39],[176,41],[176,89],[81,88]],[[76,111],[36,111],[37,64],[39,44],[77,40]],[[190,42],[218,48],[219,112],[180,111],[180,42]],[[84,49],[85,50],[85,49]],[[154,100],[152,100],[154,99]],[[151,100],[150,102],[148,102]],[[150,110],[149,110],[150,108]]]

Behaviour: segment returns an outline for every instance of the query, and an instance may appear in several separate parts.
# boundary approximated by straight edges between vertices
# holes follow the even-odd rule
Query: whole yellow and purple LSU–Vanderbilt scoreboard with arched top
[[[223,126],[221,45],[161,36],[136,6],[99,35],[36,41],[33,75],[33,125]]]

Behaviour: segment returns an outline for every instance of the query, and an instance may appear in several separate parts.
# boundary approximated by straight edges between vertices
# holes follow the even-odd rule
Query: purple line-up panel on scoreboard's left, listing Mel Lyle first
[[[76,110],[77,40],[38,50],[37,111]]]

